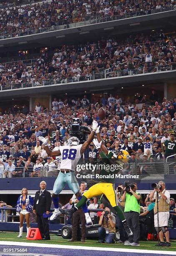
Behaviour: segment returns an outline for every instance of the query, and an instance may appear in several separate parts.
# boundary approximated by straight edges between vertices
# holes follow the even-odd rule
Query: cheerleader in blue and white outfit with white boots
[[[24,218],[26,220],[27,236],[28,236],[28,230],[30,228],[30,212],[32,212],[33,210],[33,203],[34,203],[33,198],[30,195],[28,195],[28,189],[23,187],[21,191],[21,195],[18,197],[17,206],[16,206],[17,212],[20,212],[20,233],[17,237],[22,237]]]

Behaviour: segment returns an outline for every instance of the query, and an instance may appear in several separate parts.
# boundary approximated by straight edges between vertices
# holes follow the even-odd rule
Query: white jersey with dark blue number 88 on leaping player
[[[80,160],[80,148],[82,144],[78,146],[60,146],[61,163],[60,169],[69,169],[75,171],[76,165]]]

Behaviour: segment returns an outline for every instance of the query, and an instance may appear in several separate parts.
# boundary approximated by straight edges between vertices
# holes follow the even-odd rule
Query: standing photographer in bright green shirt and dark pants
[[[121,201],[125,202],[125,217],[129,227],[133,230],[133,236],[129,237],[124,245],[139,246],[140,238],[140,226],[139,226],[139,214],[140,214],[140,200],[141,194],[136,192],[137,184],[129,184],[124,182],[124,193],[121,197]]]

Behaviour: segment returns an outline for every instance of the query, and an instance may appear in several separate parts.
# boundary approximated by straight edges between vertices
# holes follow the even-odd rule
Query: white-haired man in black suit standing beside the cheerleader
[[[36,192],[34,198],[33,213],[37,215],[38,228],[43,239],[50,240],[48,218],[43,217],[43,213],[50,213],[51,194],[46,190],[46,182],[40,182],[40,190]]]

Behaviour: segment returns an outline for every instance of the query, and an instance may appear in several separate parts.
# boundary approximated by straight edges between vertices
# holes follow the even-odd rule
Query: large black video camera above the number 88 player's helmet
[[[77,137],[79,140],[83,139],[83,121],[80,118],[73,118],[72,123],[68,125],[70,137]]]

